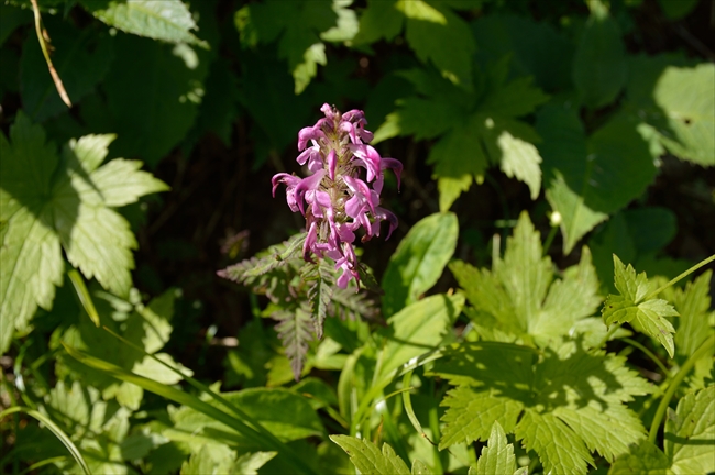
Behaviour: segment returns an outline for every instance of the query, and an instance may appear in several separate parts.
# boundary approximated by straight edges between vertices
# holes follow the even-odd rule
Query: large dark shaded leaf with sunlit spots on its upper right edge
[[[118,35],[114,46],[117,57],[103,86],[119,135],[116,153],[156,165],[194,124],[208,73],[206,55],[186,44],[172,48],[128,35]]]

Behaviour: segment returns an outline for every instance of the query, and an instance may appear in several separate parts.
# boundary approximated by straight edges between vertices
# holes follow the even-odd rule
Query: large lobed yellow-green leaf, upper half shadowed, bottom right
[[[624,402],[652,391],[625,358],[587,352],[579,340],[548,347],[463,343],[443,351],[431,371],[450,384],[440,449],[487,440],[494,421],[534,450],[544,473],[585,474],[591,453],[608,461],[645,437]]]

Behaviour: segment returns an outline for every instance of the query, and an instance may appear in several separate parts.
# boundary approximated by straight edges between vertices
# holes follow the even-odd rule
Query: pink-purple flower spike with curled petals
[[[297,162],[306,165],[310,175],[300,178],[279,173],[273,177],[273,196],[279,184],[286,185],[286,200],[290,209],[306,218],[308,235],[302,256],[312,262],[312,254],[328,256],[341,268],[338,286],[348,287],[350,279],[359,280],[358,261],[353,250],[355,232],[363,228],[362,241],[380,236],[380,223],[387,221],[387,239],[397,227],[397,218],[380,207],[383,172],[391,168],[399,176],[403,164],[395,158],[383,158],[367,145],[373,139],[365,130],[364,113],[351,110],[340,113],[329,104],[320,110],[326,114],[314,126],[298,133]],[[312,145],[308,145],[308,144]],[[361,169],[366,180],[359,178]],[[369,184],[372,184],[372,188]]]

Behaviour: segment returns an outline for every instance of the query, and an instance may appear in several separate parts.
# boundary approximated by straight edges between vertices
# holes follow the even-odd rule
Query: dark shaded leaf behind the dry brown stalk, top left
[[[73,103],[79,102],[105,77],[113,59],[113,43],[108,34],[89,35],[67,22],[47,23],[54,54],[52,63]],[[43,122],[67,110],[57,93],[37,37],[29,35],[20,63],[22,106],[34,121]]]

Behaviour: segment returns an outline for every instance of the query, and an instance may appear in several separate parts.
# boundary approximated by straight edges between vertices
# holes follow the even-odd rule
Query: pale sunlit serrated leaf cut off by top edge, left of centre
[[[190,30],[197,30],[191,12],[180,0],[80,0],[96,19],[121,30],[168,43],[188,43],[208,48]]]

